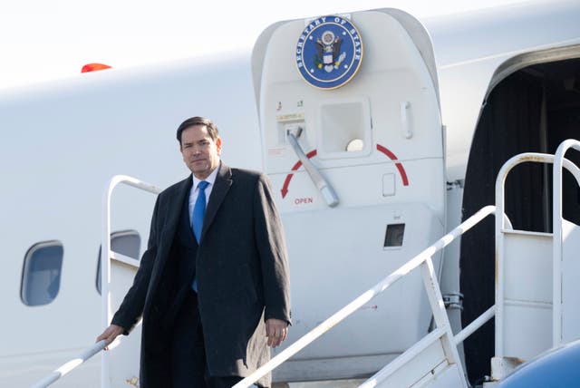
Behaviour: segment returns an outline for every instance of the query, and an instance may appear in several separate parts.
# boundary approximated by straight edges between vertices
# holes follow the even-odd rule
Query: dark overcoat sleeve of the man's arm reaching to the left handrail
[[[119,325],[125,329],[123,333],[124,335],[128,335],[129,332],[131,332],[133,327],[139,321],[140,316],[143,314],[145,298],[147,296],[147,290],[149,288],[151,279],[151,271],[155,262],[155,257],[157,256],[159,211],[160,197],[158,197],[157,201],[155,202],[153,216],[151,217],[151,227],[149,240],[147,243],[147,250],[141,257],[140,267],[137,270],[137,274],[133,280],[133,285],[127,292],[127,295],[123,298],[119,310],[117,310],[111,320],[111,324]]]

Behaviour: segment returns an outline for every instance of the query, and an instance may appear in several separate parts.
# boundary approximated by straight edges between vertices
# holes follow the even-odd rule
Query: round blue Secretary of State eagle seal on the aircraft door
[[[298,38],[298,72],[316,88],[343,86],[353,79],[361,63],[361,35],[354,24],[341,16],[314,19]]]

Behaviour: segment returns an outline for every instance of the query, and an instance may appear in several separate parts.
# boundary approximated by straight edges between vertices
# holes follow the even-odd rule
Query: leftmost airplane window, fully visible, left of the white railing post
[[[20,297],[26,306],[51,303],[61,288],[63,244],[45,241],[28,249],[24,256]]]

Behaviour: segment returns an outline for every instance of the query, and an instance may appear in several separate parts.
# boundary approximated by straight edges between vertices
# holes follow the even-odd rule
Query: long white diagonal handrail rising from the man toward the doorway
[[[459,227],[454,228],[448,234],[446,234],[445,236],[443,236],[442,238],[437,240],[437,242],[432,244],[430,247],[427,247],[425,250],[420,252],[419,255],[411,258],[411,260],[409,260],[407,263],[405,263],[404,265],[399,267],[397,270],[392,272],[391,275],[385,277],[384,279],[382,279],[381,282],[377,283],[371,289],[362,293],[361,296],[358,296],[351,303],[344,306],[338,312],[334,313],[334,315],[332,315],[331,317],[326,319],[322,324],[314,327],[313,330],[311,330],[310,332],[308,332],[307,334],[305,334],[304,336],[299,338],[294,344],[289,345],[287,348],[285,348],[284,351],[282,351],[280,354],[277,354],[268,363],[262,365],[254,373],[251,373],[250,375],[248,375],[244,380],[237,383],[232,388],[250,387],[253,383],[256,383],[257,380],[259,380],[261,377],[266,375],[266,373],[272,372],[272,370],[274,370],[277,366],[284,363],[287,359],[292,357],[294,354],[298,353],[300,350],[302,350],[308,344],[311,344],[316,338],[318,338],[321,335],[324,335],[324,333],[326,333],[328,330],[330,330],[334,325],[339,324],[346,317],[348,317],[349,315],[352,315],[356,310],[358,310],[362,306],[366,305],[373,297],[381,294],[387,288],[392,286],[392,284],[394,284],[397,280],[400,280],[401,277],[409,274],[411,272],[411,270],[415,269],[416,267],[419,267],[423,262],[425,262],[430,257],[432,257],[440,249],[448,246],[449,243],[451,243],[455,238],[458,238],[463,233],[467,232],[470,228],[473,228],[483,218],[486,218],[490,214],[495,214],[495,213],[496,213],[495,206],[490,205],[490,206],[486,206],[483,209],[480,209],[473,216],[469,217],[464,222],[462,222],[459,225]],[[430,290],[427,289],[427,292],[429,293]],[[443,303],[442,300],[440,301],[440,303],[441,304]],[[478,323],[476,324],[477,327],[471,326],[471,325],[469,326],[469,330],[471,330],[471,333],[473,331],[477,330],[477,328],[479,326],[485,324],[485,322],[487,322],[487,320],[489,318],[491,318],[491,316],[493,316],[493,315],[489,315],[488,312],[484,313],[484,315],[486,315],[485,317],[487,317],[487,319],[485,321],[478,320]],[[475,324],[475,322],[474,322],[474,324]],[[460,339],[462,341],[465,337],[467,337],[470,334],[470,333],[467,334],[467,332],[464,333],[467,329],[468,329],[468,327],[463,329],[458,335],[455,336],[454,340],[456,342],[457,342],[456,339]]]

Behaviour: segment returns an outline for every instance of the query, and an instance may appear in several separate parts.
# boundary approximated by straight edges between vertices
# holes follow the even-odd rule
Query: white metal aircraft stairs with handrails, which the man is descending
[[[431,387],[455,388],[469,387],[457,349],[458,344],[478,330],[490,318],[495,316],[495,356],[491,360],[491,382],[484,387],[493,387],[517,368],[523,360],[529,360],[559,344],[571,342],[580,337],[580,284],[575,281],[575,274],[580,273],[580,261],[575,259],[575,252],[580,250],[580,227],[562,218],[562,171],[570,171],[580,186],[580,170],[571,161],[564,158],[566,150],[580,150],[580,142],[568,140],[558,147],[556,155],[542,153],[519,154],[504,164],[496,181],[496,205],[480,209],[457,228],[427,247],[416,257],[385,277],[371,289],[355,298],[334,315],[316,326],[311,332],[290,344],[277,354],[269,363],[263,365],[256,373],[234,385],[234,388],[250,387],[256,380],[271,372],[276,366],[284,363],[306,345],[332,329],[354,311],[367,304],[374,296],[387,290],[401,277],[420,267],[423,286],[428,295],[433,315],[433,329],[419,342],[412,345],[403,354],[385,365],[372,375],[360,388],[371,387]],[[538,233],[512,228],[504,213],[504,183],[507,174],[515,166],[524,162],[553,164],[553,233]],[[111,251],[110,214],[105,201],[111,200],[114,186],[126,183],[152,193],[159,189],[144,184],[137,179],[117,176],[103,197],[105,205],[103,214],[103,279],[109,279],[109,285],[103,282],[103,324],[108,325],[111,319],[111,306],[115,298],[120,302],[124,295],[119,286],[123,277],[132,276],[138,265],[130,258],[122,257]],[[478,224],[489,215],[496,218],[496,303],[480,315],[458,334],[453,334],[439,282],[431,257],[446,247],[454,239]],[[118,274],[111,276],[111,274]],[[132,278],[132,277],[131,277]],[[126,279],[125,279],[126,280]],[[116,284],[118,283],[118,284]],[[115,294],[121,294],[115,295]],[[131,341],[131,335],[122,339]],[[119,344],[119,340],[115,343]],[[110,348],[113,348],[113,343]],[[45,387],[69,373],[75,366],[98,353],[104,347],[103,342],[95,344],[79,359],[64,364],[61,368],[46,376],[34,387]],[[122,374],[118,360],[127,360],[119,346],[112,352],[102,353],[102,387],[127,386],[130,383],[127,375]],[[114,356],[112,363],[108,357]],[[129,357],[138,359],[138,357]],[[133,360],[138,363],[139,360]],[[124,365],[126,366],[126,365]],[[133,365],[133,368],[135,366]],[[133,369],[135,370],[135,369]],[[137,365],[138,370],[138,365]]]

